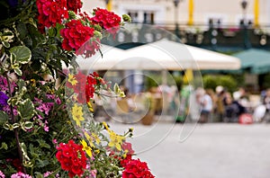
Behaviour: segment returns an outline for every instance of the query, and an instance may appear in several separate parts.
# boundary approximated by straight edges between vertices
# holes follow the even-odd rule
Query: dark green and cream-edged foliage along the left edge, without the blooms
[[[16,84],[13,85],[14,91],[4,91],[9,96],[8,104],[13,106],[16,114],[0,111],[0,167],[5,165],[1,171],[6,177],[17,173],[14,165],[8,161],[20,158],[17,137],[26,172],[32,176],[35,174],[35,177],[43,177],[48,171],[60,171],[55,158],[56,144],[52,140],[67,142],[78,136],[64,110],[64,89],[56,89],[54,82],[59,74],[63,74],[62,62],[69,66],[75,55],[61,49],[59,31],[63,25],[58,24],[45,33],[38,30],[35,1],[25,1],[13,8],[13,11],[0,21],[0,76],[5,78],[14,74]],[[45,83],[45,75],[54,78]],[[47,94],[55,94],[61,104],[48,99]],[[48,113],[37,110],[41,103],[35,100],[50,102],[52,109]],[[48,123],[37,120],[39,116]],[[44,129],[46,124],[49,131]]]

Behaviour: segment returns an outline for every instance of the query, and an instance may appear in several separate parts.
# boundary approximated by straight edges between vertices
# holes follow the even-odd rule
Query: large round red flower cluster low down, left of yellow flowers
[[[67,144],[60,143],[57,147],[56,157],[63,170],[68,171],[69,177],[81,176],[86,168],[86,156],[83,146],[77,145],[73,140]]]

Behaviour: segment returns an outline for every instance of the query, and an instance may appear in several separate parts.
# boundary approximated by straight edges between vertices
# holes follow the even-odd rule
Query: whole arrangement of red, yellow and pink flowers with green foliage
[[[79,0],[4,3],[0,177],[154,177],[132,158],[132,129],[119,135],[94,121],[94,96],[124,97],[119,86],[72,62],[98,52],[104,35],[115,35],[129,16],[101,8],[88,15]]]

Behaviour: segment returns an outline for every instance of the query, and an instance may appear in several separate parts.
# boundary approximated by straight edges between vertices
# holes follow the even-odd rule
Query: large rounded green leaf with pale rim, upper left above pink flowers
[[[11,53],[16,56],[16,61],[20,64],[27,64],[31,59],[31,50],[25,46],[16,46],[10,49]]]

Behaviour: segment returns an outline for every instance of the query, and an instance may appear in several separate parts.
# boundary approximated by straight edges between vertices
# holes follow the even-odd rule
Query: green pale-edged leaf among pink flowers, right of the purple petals
[[[30,99],[26,99],[25,101],[19,104],[18,113],[25,120],[31,119],[31,117],[34,115],[35,112],[34,112],[34,105]]]

